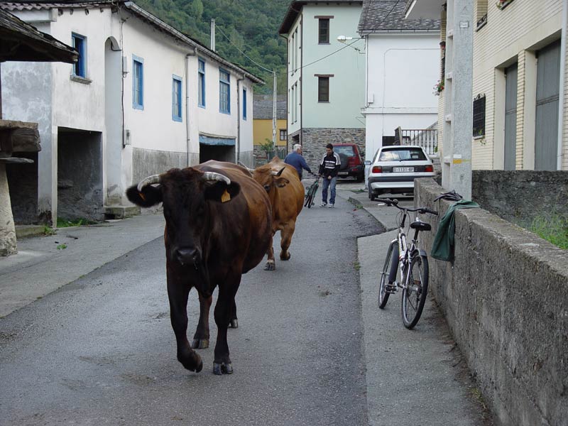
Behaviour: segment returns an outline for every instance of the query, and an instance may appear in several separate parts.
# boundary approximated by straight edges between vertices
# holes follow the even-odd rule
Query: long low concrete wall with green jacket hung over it
[[[450,202],[417,180],[432,232]],[[552,246],[484,209],[457,211],[455,261],[430,258],[430,290],[497,425],[568,425],[568,262]]]

